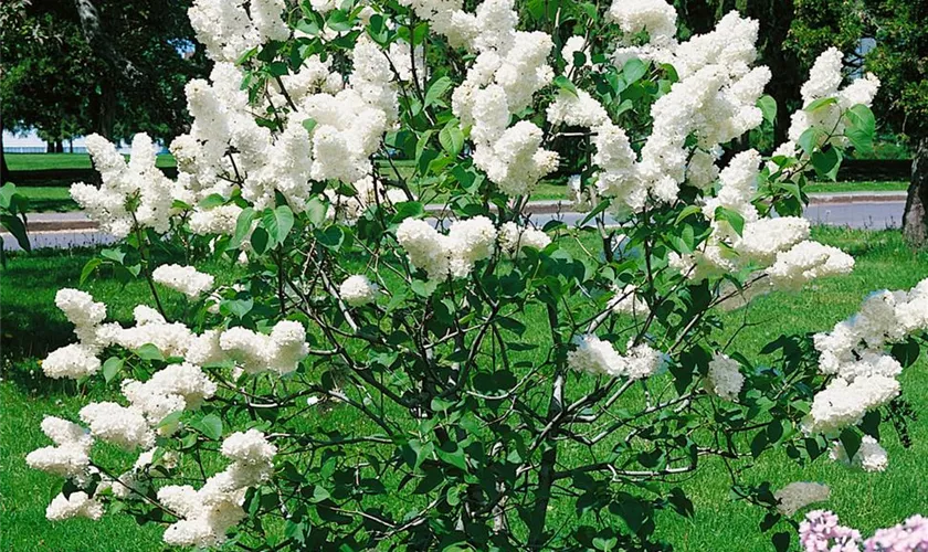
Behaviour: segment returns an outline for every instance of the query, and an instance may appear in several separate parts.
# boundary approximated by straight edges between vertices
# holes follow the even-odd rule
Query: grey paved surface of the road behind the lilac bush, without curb
[[[805,210],[805,216],[821,224],[884,230],[899,227],[903,221],[904,209],[905,203],[901,201],[822,203],[810,205]],[[539,225],[555,219],[560,219],[567,224],[577,224],[584,216],[578,213],[538,214],[532,216],[532,220]],[[4,247],[8,251],[19,248],[11,235],[0,234],[0,236],[3,237]],[[113,243],[112,236],[93,230],[33,232],[30,237],[33,248],[67,248]]]

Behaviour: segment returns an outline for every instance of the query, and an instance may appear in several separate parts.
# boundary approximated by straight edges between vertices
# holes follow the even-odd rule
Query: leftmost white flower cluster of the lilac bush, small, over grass
[[[42,421],[42,433],[54,446],[29,453],[25,457],[29,467],[77,481],[86,480],[93,437],[80,425],[54,416]]]

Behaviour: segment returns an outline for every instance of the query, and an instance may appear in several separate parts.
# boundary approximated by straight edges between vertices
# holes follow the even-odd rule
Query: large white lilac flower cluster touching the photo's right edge
[[[861,311],[814,337],[819,370],[835,379],[820,391],[803,423],[806,433],[837,433],[899,394],[901,364],[888,343],[928,329],[928,279],[909,291],[876,291]]]

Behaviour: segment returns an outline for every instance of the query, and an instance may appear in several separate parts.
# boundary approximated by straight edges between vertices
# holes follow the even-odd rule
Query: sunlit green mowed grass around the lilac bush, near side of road
[[[818,282],[802,294],[773,294],[755,300],[745,310],[726,315],[734,323],[753,326],[742,331],[737,350],[763,360],[758,351],[781,333],[830,329],[855,312],[861,300],[879,288],[909,288],[928,277],[928,253],[913,252],[894,232],[816,230],[816,237],[848,251],[857,258],[851,276]],[[41,373],[38,360],[50,350],[73,340],[71,327],[54,307],[55,290],[77,286],[81,268],[92,252],[32,257],[15,256],[0,269],[0,551],[151,551],[161,550],[160,530],[138,527],[126,516],[104,517],[99,522],[70,520],[50,523],[44,509],[60,479],[34,471],[23,457],[48,445],[39,424],[45,414],[76,420],[89,400],[113,396],[115,388],[95,382],[86,389],[53,382]],[[212,268],[213,270],[210,270]],[[207,267],[219,274],[219,267]],[[131,308],[148,302],[141,284],[125,288],[114,282],[97,282],[85,288],[109,306],[113,318],[127,321]],[[173,298],[173,307],[180,300]],[[531,320],[527,320],[532,323]],[[538,333],[530,331],[529,333]],[[771,359],[772,360],[772,359]],[[832,499],[823,505],[864,533],[894,524],[911,513],[926,512],[924,497],[928,480],[928,364],[924,358],[903,374],[903,392],[920,414],[909,429],[914,445],[905,449],[890,426],[883,428],[883,444],[889,452],[885,474],[860,474],[826,458],[802,468],[781,452],[770,453],[747,473],[747,482],[770,479],[774,486],[794,480],[816,480],[832,487]],[[82,395],[82,396],[75,396]],[[341,425],[349,413],[331,408],[325,414]],[[113,460],[117,458],[116,453]],[[693,477],[681,479],[696,506],[696,517],[683,520],[661,514],[657,533],[678,551],[772,550],[769,535],[758,524],[762,512],[729,498],[729,480],[720,465],[706,463]],[[558,512],[570,519],[572,512]],[[618,524],[618,521],[616,521]],[[778,528],[784,530],[784,528]],[[793,539],[795,545],[795,539]]]

